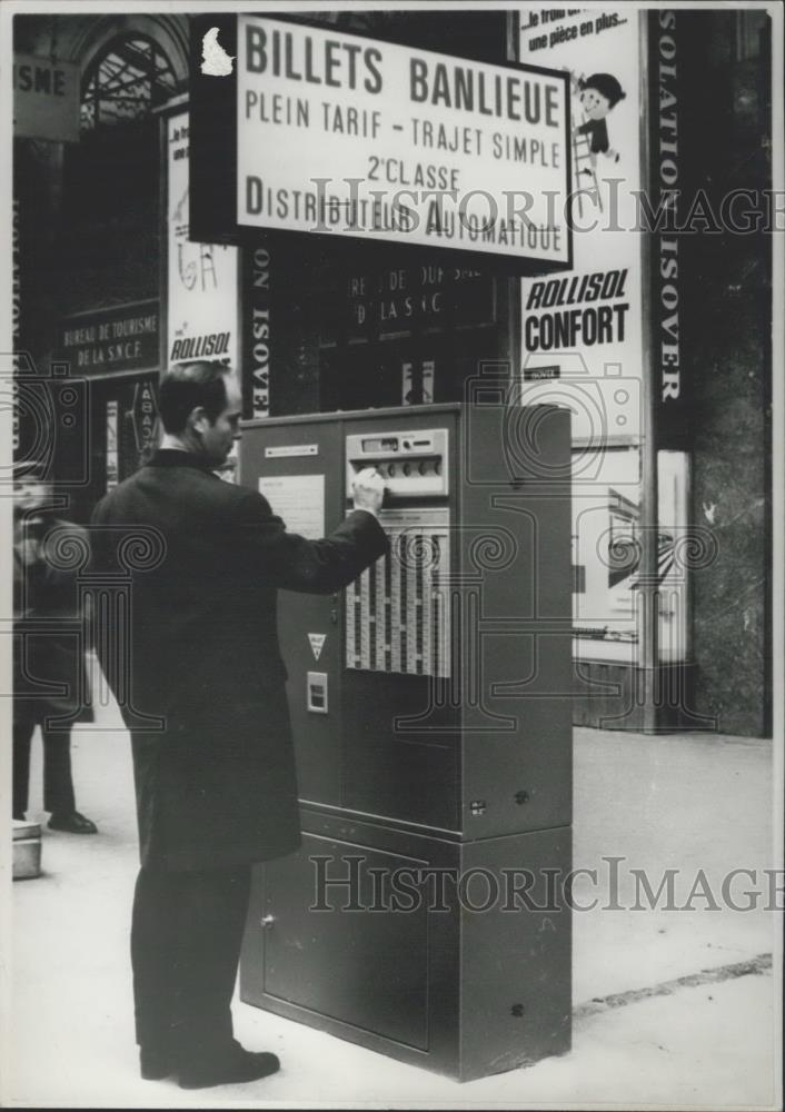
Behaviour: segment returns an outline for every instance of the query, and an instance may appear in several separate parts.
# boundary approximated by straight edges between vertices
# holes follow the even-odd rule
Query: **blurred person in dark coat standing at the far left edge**
[[[24,818],[30,745],[43,742],[43,806],[52,830],[95,834],[77,811],[71,726],[90,722],[77,574],[87,530],[54,517],[44,465],[23,460],[13,478],[13,817]]]

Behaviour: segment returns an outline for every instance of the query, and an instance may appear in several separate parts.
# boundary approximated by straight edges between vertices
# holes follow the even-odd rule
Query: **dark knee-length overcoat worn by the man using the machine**
[[[131,729],[142,864],[211,868],[291,852],[300,835],[277,592],[346,586],[387,550],[384,529],[358,510],[307,540],[262,495],[173,449],[110,492],[92,524],[99,567],[131,584],[130,629],[122,606],[110,608],[96,642]],[[161,725],[140,728],[141,715]]]

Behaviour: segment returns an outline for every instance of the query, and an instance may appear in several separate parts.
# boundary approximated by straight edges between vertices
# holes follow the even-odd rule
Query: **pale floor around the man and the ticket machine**
[[[763,896],[751,911],[722,898],[731,870],[756,871],[754,882],[737,874],[726,888],[743,906],[744,892],[764,892],[763,870],[776,864],[771,743],[576,731],[575,861],[597,870],[584,895],[599,906],[575,913],[568,1055],[459,1085],[238,1004],[240,1039],[277,1051],[281,1072],[189,1094],[171,1081],[138,1078],[128,960],[137,866],[130,755],[125,733],[109,728],[117,727],[111,711],[101,725],[73,746],[79,806],[100,834],[44,830],[44,875],[13,885],[7,1106],[775,1106],[778,916],[763,910]],[[30,817],[41,814],[38,749]],[[615,903],[627,910],[607,906],[614,867]],[[633,870],[645,870],[656,891],[668,868],[677,871],[673,903],[683,910],[629,910]],[[707,891],[719,910],[709,910]],[[774,972],[766,961],[743,976],[724,969],[772,953]],[[705,983],[633,994],[719,969]],[[592,1003],[612,994],[622,995]]]

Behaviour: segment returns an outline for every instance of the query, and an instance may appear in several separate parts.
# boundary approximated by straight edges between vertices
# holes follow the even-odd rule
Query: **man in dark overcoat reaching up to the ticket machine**
[[[388,542],[374,473],[358,476],[355,512],[322,540],[287,533],[260,494],[215,474],[240,418],[220,365],[169,371],[159,409],[161,448],[93,514],[105,568],[148,546],[146,569],[132,572],[130,629],[98,631],[97,643],[132,738],[142,1076],[177,1072],[182,1088],[202,1088],[278,1068],[232,1039],[230,1012],[251,863],[300,840],[277,590],[338,590]],[[112,642],[125,637],[130,669],[112,678]],[[158,725],[142,728],[145,715]]]

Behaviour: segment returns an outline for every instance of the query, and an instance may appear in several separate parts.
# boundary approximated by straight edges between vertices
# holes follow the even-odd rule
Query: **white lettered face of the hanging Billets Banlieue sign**
[[[237,220],[565,267],[568,79],[238,18]]]

